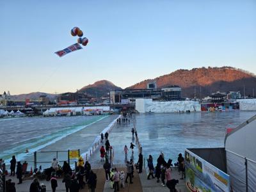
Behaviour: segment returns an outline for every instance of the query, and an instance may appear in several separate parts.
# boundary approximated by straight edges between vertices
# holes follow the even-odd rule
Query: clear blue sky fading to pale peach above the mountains
[[[0,93],[74,92],[108,79],[125,88],[179,68],[256,74],[256,1],[0,1]],[[83,50],[54,54],[76,42]]]

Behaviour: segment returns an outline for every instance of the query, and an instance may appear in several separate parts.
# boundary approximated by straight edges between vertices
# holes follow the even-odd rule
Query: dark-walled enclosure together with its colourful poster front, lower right
[[[188,191],[230,192],[224,148],[185,150],[186,188]]]

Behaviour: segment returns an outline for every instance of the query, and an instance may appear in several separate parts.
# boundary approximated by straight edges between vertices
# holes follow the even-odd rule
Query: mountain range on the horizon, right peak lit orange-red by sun
[[[140,83],[129,86],[126,89],[147,88],[147,84],[156,81],[157,88],[179,85],[182,88],[183,97],[206,97],[213,92],[240,91],[241,95],[252,96],[256,92],[256,76],[250,72],[233,67],[202,67],[191,70],[179,69],[170,74],[156,77],[155,79],[146,79]],[[81,88],[78,92],[87,93],[92,97],[108,97],[111,90],[121,90],[107,80],[97,81]],[[15,95],[15,98],[35,98],[36,95],[49,95],[48,93],[29,93]]]

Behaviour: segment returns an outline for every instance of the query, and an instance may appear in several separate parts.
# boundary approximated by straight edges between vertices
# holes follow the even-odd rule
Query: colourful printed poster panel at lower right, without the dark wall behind
[[[230,192],[230,177],[193,152],[185,150],[186,187],[192,192]]]

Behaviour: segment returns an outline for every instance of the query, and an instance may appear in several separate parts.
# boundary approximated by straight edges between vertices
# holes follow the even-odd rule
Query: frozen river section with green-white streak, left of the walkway
[[[33,152],[38,150],[80,149],[81,153],[86,152],[115,118],[117,115],[2,119],[0,158],[9,159],[14,154],[18,160],[31,161]],[[26,149],[29,153],[24,153]],[[38,153],[37,161],[51,161],[54,156],[55,152]],[[58,159],[67,160],[67,152],[60,153]]]

